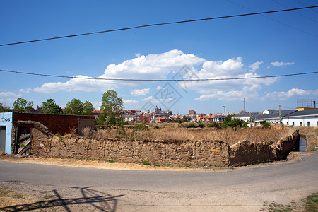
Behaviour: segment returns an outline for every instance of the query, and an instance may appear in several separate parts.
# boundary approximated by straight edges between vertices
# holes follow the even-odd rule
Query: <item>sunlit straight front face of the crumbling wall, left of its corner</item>
[[[228,145],[220,141],[134,139],[52,139],[54,157],[115,160],[126,163],[173,164],[200,167],[226,166]]]

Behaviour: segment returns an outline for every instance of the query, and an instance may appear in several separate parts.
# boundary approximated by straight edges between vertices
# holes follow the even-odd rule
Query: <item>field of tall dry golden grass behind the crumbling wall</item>
[[[164,127],[163,127],[164,126]],[[129,138],[129,139],[162,139],[162,140],[190,140],[190,141],[225,141],[232,145],[238,141],[276,143],[283,136],[288,136],[295,129],[269,129],[269,128],[247,128],[247,129],[187,129],[176,127],[175,124],[165,124],[159,129],[150,127],[148,130],[139,131],[134,129],[98,129],[86,132],[85,136],[97,139],[107,138]],[[84,134],[83,134],[84,136]]]

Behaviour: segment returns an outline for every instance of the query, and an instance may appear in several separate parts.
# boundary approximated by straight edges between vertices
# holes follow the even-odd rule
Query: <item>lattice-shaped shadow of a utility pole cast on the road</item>
[[[69,206],[79,205],[79,204],[90,204],[94,208],[100,211],[116,211],[117,208],[117,198],[124,195],[111,196],[104,192],[99,192],[97,190],[91,189],[91,187],[71,187],[73,189],[80,189],[80,198],[70,198],[63,199],[57,190],[52,190],[54,195],[49,196],[50,200],[47,201],[37,201],[32,204],[23,204],[16,206],[8,206],[0,208],[0,211],[32,211],[37,209],[52,208],[57,206],[62,206],[65,211],[71,211]]]

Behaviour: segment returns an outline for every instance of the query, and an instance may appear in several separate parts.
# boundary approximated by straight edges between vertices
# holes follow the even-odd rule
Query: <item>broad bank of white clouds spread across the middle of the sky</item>
[[[290,90],[288,93],[273,92],[267,93],[265,97],[259,97],[259,90],[263,86],[269,86],[276,83],[279,78],[253,78],[240,80],[219,80],[220,78],[250,78],[258,77],[256,73],[263,61],[256,61],[254,64],[246,66],[242,57],[227,59],[224,61],[207,61],[204,58],[197,57],[194,54],[184,54],[177,49],[162,54],[135,54],[134,59],[127,59],[121,64],[110,64],[98,78],[119,79],[165,79],[172,74],[179,74],[181,78],[199,78],[215,79],[213,81],[179,81],[178,84],[183,90],[195,90],[199,97],[195,100],[242,100],[242,98],[262,100],[264,98],[283,98],[283,96],[305,95],[302,90]],[[295,64],[293,62],[273,62],[271,66],[287,66]],[[187,67],[187,69],[183,69]],[[198,68],[199,67],[199,68]],[[248,67],[248,68],[247,68]],[[182,70],[185,72],[183,73]],[[88,77],[90,76],[80,76]],[[170,77],[171,78],[171,77]],[[176,78],[177,79],[177,78]],[[45,83],[33,90],[40,93],[54,93],[57,91],[103,91],[123,87],[140,86],[150,82],[140,81],[105,81],[98,79],[72,78],[66,82]],[[157,86],[156,90],[162,90],[163,87]],[[131,90],[131,95],[147,95],[151,88]],[[21,93],[28,93],[30,89],[20,90]],[[318,91],[312,91],[318,93]],[[159,102],[158,99],[149,96],[142,101]],[[127,104],[137,104],[136,100],[124,100]]]

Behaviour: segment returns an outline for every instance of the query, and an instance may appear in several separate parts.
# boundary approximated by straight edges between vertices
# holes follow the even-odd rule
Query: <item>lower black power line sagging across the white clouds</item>
[[[255,78],[275,78],[275,77],[285,77],[285,76],[300,76],[318,73],[318,71],[305,72],[305,73],[288,73],[281,75],[270,75],[270,76],[249,76],[249,77],[236,77],[236,78],[201,78],[201,79],[134,79],[134,78],[93,78],[93,77],[85,77],[85,76],[61,76],[61,75],[52,75],[45,73],[28,73],[23,71],[10,71],[0,69],[2,72],[8,73],[20,73],[27,74],[33,76],[48,76],[48,77],[57,77],[57,78],[80,78],[80,79],[88,79],[88,80],[103,80],[103,81],[228,81],[228,80],[242,80],[242,79],[255,79]]]

